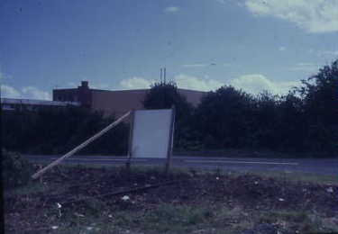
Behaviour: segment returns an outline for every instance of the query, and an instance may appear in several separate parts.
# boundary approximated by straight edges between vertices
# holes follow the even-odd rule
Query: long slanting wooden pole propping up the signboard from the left
[[[59,157],[57,160],[55,160],[54,162],[50,163],[49,166],[44,167],[43,169],[41,169],[40,171],[38,171],[37,173],[35,173],[34,175],[32,175],[32,179],[36,179],[38,178],[40,175],[46,173],[47,171],[49,171],[53,166],[57,166],[59,163],[61,163],[62,161],[64,161],[65,159],[67,159],[68,157],[72,156],[73,154],[75,154],[76,152],[78,152],[78,150],[80,150],[81,148],[85,148],[89,143],[93,142],[94,140],[98,139],[99,137],[101,137],[103,134],[105,134],[105,132],[107,132],[108,130],[113,129],[117,124],[119,124],[121,121],[123,121],[125,118],[127,118],[129,116],[131,112],[127,112],[125,113],[120,119],[118,119],[117,121],[114,121],[112,124],[108,125],[107,127],[105,127],[105,129],[100,130],[99,132],[97,132],[93,137],[91,137],[90,139],[87,139],[85,142],[83,142],[82,144],[80,144],[78,147],[73,148],[72,150],[70,150],[67,154],[65,154],[62,157]]]

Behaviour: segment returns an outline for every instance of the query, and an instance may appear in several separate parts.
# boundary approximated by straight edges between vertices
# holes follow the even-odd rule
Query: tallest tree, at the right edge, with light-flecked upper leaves
[[[314,76],[302,80],[298,89],[304,100],[306,116],[306,148],[332,155],[337,136],[337,79],[338,66],[324,66]]]

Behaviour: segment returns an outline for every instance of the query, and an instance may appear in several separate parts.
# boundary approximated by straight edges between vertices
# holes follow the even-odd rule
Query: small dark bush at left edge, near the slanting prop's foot
[[[26,185],[31,181],[33,165],[19,154],[2,149],[4,188]]]

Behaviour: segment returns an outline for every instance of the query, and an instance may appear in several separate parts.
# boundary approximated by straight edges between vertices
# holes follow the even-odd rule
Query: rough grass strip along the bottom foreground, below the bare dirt
[[[336,233],[336,219],[306,211],[246,211],[243,208],[158,204],[151,211],[101,211],[98,216],[64,211],[50,226],[57,233],[238,233],[255,223],[279,227],[281,233],[297,226],[299,233]],[[68,213],[67,213],[68,212]]]

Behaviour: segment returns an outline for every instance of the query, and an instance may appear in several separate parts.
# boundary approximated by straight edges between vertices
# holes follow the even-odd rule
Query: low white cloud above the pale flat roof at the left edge
[[[50,94],[34,86],[25,86],[20,91],[9,85],[1,85],[1,97],[36,100],[51,100]]]

